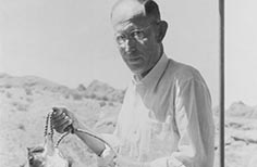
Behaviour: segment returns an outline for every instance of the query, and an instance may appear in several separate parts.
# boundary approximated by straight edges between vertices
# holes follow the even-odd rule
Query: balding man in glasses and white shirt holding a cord
[[[209,90],[193,67],[168,59],[162,40],[168,24],[152,0],[120,0],[111,23],[122,59],[133,73],[113,134],[101,141],[75,131],[97,155],[98,166],[212,167],[213,119]],[[192,56],[192,55],[188,55]],[[72,123],[85,128],[65,108],[56,108],[54,129]]]

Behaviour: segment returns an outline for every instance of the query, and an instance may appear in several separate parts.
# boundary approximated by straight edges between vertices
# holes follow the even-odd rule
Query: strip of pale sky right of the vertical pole
[[[225,5],[227,103],[257,105],[257,1],[228,0]]]

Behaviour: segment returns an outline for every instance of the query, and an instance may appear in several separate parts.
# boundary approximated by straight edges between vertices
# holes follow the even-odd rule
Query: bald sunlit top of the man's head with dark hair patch
[[[118,0],[111,11],[113,25],[138,16],[151,20],[151,22],[159,22],[158,4],[154,0]]]

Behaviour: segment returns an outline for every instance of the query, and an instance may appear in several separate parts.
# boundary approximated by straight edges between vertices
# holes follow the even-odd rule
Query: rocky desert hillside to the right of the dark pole
[[[257,106],[234,102],[225,111],[227,167],[248,167],[254,159],[257,160]]]

